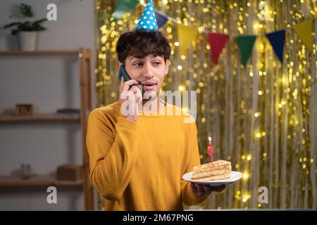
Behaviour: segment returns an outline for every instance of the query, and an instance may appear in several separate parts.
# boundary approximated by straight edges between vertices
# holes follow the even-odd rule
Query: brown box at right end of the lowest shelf
[[[62,181],[78,181],[82,179],[82,166],[61,165],[57,167],[57,179]]]

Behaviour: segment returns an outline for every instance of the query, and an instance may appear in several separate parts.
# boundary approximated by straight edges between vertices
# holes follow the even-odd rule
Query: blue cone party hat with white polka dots
[[[135,30],[137,29],[158,30],[152,0],[149,0],[149,4],[147,4],[147,7],[141,15],[139,23],[137,23],[137,27],[135,27]]]

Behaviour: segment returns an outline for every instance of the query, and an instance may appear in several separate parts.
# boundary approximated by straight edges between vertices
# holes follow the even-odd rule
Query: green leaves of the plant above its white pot
[[[20,13],[22,13],[25,18],[32,18],[33,12],[31,6],[28,6],[26,4],[20,4]],[[30,31],[43,31],[46,30],[46,27],[43,27],[41,23],[46,21],[46,18],[43,18],[41,20],[36,20],[34,22],[25,21],[25,22],[14,22],[10,23],[8,25],[4,26],[4,29],[8,29],[10,27],[14,27],[11,30],[11,34],[16,35],[19,32],[30,32]]]

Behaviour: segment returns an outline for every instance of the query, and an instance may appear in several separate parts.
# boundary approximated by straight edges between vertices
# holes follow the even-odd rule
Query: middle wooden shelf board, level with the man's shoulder
[[[19,121],[64,121],[80,122],[79,115],[56,115],[38,114],[30,116],[0,115],[0,122],[19,122]]]

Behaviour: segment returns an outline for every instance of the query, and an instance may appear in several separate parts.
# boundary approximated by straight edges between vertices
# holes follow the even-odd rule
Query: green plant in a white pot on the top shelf
[[[25,18],[32,18],[33,12],[31,6],[26,4],[20,4],[20,13],[25,16]],[[4,29],[12,28],[11,34],[18,35],[19,48],[22,51],[34,51],[35,42],[37,39],[37,32],[46,30],[46,27],[42,27],[46,18],[41,20],[36,20],[35,22],[25,21],[25,22],[14,22],[4,26]]]

